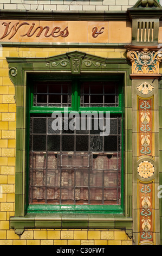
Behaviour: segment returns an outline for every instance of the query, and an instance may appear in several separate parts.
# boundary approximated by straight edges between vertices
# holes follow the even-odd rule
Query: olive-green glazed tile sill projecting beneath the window
[[[11,217],[10,228],[21,235],[25,228],[125,229],[132,234],[132,218],[123,214],[27,214]],[[130,235],[131,236],[131,235]]]

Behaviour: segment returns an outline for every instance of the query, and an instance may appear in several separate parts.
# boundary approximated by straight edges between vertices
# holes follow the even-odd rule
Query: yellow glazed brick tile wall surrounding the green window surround
[[[122,230],[30,229],[18,236],[9,227],[15,207],[16,103],[5,57],[50,57],[76,50],[105,58],[126,57],[124,49],[3,48],[0,59],[0,245],[132,245]]]

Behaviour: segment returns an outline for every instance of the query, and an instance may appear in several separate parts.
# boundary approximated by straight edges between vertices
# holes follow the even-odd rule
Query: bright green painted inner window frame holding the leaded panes
[[[92,75],[93,76],[93,75]],[[100,77],[100,79],[103,79],[101,76],[101,74],[98,74],[98,76]],[[116,76],[117,78],[118,76]],[[83,77],[78,77],[79,80],[84,78]],[[58,78],[60,81],[61,80],[61,76],[60,78]],[[74,79],[74,80],[73,80]],[[119,106],[118,107],[81,107],[80,106],[80,88],[79,88],[79,82],[75,79],[75,75],[72,76],[72,106],[68,109],[69,112],[75,112],[77,111],[78,113],[81,114],[82,111],[109,111],[111,114],[120,114],[121,118],[123,120],[123,108],[122,108],[122,102],[123,102],[123,95],[122,95],[122,84],[118,84],[118,89],[119,89],[119,94],[118,94],[118,101],[119,101]],[[89,80],[92,80],[92,77],[89,77]],[[115,79],[114,81],[116,81],[117,79]],[[41,79],[42,81],[42,79]],[[88,78],[86,78],[86,81],[88,81]],[[99,80],[100,81],[100,80]],[[104,79],[102,80],[104,81]],[[106,80],[105,80],[106,81]],[[31,82],[32,83],[32,82]],[[117,83],[117,82],[116,82]],[[119,81],[118,81],[119,83]],[[121,81],[122,83],[122,81]],[[34,93],[33,93],[33,84],[28,84],[28,99],[30,99],[29,101],[29,107],[27,112],[29,112],[29,118],[30,118],[30,114],[51,114],[54,111],[58,111],[63,113],[63,107],[36,107],[34,106]],[[28,141],[29,141],[29,129],[30,129],[30,125],[29,125],[30,121],[28,121],[28,128],[27,128],[27,133],[28,133]],[[75,214],[76,212],[84,212],[86,214],[88,213],[95,213],[95,212],[102,212],[102,213],[109,213],[109,214],[122,214],[122,212],[124,211],[124,175],[123,175],[123,161],[124,161],[124,152],[123,152],[123,122],[121,121],[121,205],[52,205],[52,204],[46,204],[46,206],[44,204],[31,204],[28,206],[27,208],[27,212],[28,213],[35,213],[37,211],[42,211],[42,212],[72,212],[73,214]],[[29,144],[28,144],[29,147]],[[29,162],[29,148],[27,149],[27,163]],[[28,173],[28,169],[27,169],[27,173]],[[29,176],[29,173],[28,175]],[[28,180],[28,178],[27,178]],[[28,187],[28,185],[27,185]],[[28,196],[28,193],[27,193]],[[28,202],[28,197],[26,199],[26,201]],[[63,209],[62,209],[63,206]],[[46,207],[46,209],[45,209]]]

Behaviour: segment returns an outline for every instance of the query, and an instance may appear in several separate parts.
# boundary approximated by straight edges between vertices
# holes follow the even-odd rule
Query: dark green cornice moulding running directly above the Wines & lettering
[[[161,14],[162,16],[162,14]],[[127,11],[0,10],[1,20],[128,21]]]

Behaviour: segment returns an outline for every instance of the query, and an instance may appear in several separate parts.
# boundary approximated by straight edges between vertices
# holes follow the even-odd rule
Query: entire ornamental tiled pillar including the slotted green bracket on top
[[[132,74],[133,240],[135,245],[160,245],[159,211],[159,13],[156,0],[138,1],[132,17],[132,45],[127,59]],[[156,14],[156,19],[155,17]]]

